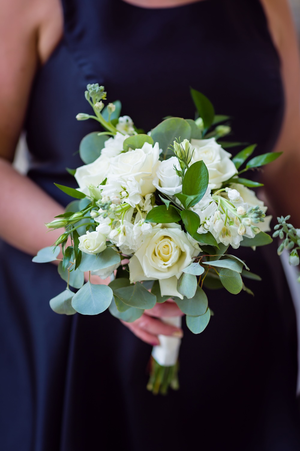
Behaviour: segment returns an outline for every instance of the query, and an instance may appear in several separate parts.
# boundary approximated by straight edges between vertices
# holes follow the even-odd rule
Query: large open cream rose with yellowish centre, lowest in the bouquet
[[[158,280],[161,295],[183,296],[177,291],[177,281],[184,268],[199,253],[175,223],[154,227],[142,246],[130,258],[130,282]]]

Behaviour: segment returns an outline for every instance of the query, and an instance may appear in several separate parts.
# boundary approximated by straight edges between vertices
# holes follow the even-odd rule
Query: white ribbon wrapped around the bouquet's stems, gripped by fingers
[[[161,321],[171,326],[181,327],[181,316],[163,317]],[[175,365],[178,359],[181,338],[166,335],[159,335],[158,338],[160,345],[153,346],[152,357],[161,366]]]

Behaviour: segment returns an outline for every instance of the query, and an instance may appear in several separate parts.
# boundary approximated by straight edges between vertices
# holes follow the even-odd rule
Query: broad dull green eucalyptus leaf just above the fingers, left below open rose
[[[114,290],[114,294],[130,307],[149,309],[156,304],[156,296],[146,290],[140,282]]]

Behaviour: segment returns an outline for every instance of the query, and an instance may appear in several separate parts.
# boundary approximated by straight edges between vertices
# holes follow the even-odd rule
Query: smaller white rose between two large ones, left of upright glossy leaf
[[[182,191],[182,180],[177,175],[174,166],[178,170],[181,170],[176,156],[171,156],[168,160],[159,161],[152,182],[156,189],[169,196],[174,196],[174,194],[181,193]]]

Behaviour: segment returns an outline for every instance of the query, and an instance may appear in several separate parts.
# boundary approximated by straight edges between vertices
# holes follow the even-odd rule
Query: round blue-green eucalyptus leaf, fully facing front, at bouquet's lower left
[[[87,282],[73,296],[72,307],[82,315],[98,315],[112,302],[112,289],[107,285]]]

